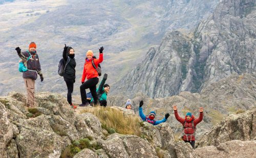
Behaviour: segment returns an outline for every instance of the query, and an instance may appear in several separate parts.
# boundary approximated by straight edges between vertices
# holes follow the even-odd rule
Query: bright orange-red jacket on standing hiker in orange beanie
[[[103,61],[103,54],[99,54],[99,59],[86,59],[86,62],[83,66],[83,72],[82,72],[82,80],[81,82],[84,82],[84,80],[87,78],[89,80],[90,78],[98,77],[97,70],[93,67],[92,60],[94,60],[94,64],[96,68],[98,68],[98,64]]]

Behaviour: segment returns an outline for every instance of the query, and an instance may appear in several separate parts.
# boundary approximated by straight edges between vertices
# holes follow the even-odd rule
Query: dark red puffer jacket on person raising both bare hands
[[[201,122],[203,120],[203,112],[200,113],[199,118],[195,119],[195,117],[192,115],[192,118],[190,120],[186,120],[181,118],[178,114],[178,111],[174,111],[174,115],[175,118],[182,123],[183,127],[184,127],[184,136],[183,136],[183,140],[184,141],[195,141],[195,136],[192,135],[194,134],[194,129],[193,129],[193,125],[192,122],[194,123],[194,128],[196,128],[196,125]],[[191,137],[191,140],[190,140]]]

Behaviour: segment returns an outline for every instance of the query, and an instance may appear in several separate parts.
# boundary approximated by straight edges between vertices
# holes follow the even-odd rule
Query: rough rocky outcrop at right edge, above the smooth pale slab
[[[218,146],[231,140],[255,140],[255,117],[256,108],[254,107],[246,113],[232,114],[224,118],[219,124],[201,136],[198,147]]]

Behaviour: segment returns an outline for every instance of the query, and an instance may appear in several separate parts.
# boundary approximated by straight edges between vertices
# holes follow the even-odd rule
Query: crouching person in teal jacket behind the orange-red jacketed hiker
[[[99,104],[102,107],[106,107],[106,96],[110,92],[110,85],[105,84],[106,78],[108,78],[108,74],[104,74],[103,79],[101,80],[99,84],[99,88],[96,90],[98,99],[99,99]],[[94,99],[92,98],[91,104],[95,104]]]

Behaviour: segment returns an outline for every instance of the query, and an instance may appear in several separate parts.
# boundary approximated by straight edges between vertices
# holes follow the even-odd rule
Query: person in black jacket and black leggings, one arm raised
[[[75,61],[75,53],[74,53],[74,49],[70,46],[67,46],[65,44],[65,47],[63,49],[63,60],[65,62],[68,61],[68,59],[70,58],[70,61],[67,64],[67,67],[65,69],[65,72],[63,74],[63,78],[64,81],[66,82],[66,85],[68,87],[68,94],[67,94],[67,100],[70,104],[70,106],[73,109],[76,109],[77,107],[73,105],[72,103],[72,93],[73,93],[73,89],[74,89],[74,83],[75,83],[75,79],[76,79],[76,61]]]

